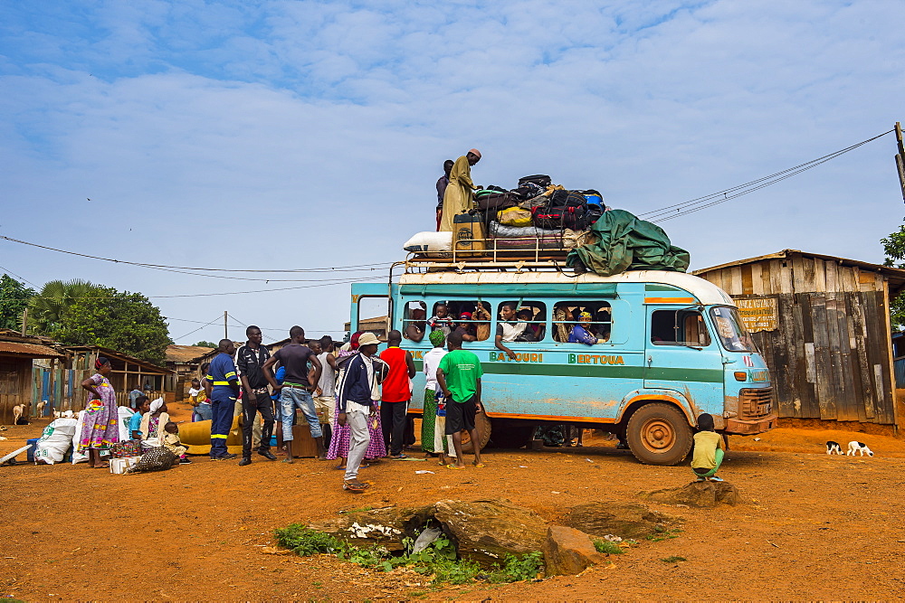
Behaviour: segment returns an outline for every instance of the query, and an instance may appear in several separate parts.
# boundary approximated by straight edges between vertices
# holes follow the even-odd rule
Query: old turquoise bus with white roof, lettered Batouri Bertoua
[[[424,333],[403,342],[419,370],[409,411],[420,414],[420,360],[431,349],[425,319],[445,306],[453,328],[471,334],[464,347],[484,371],[481,441],[472,446],[492,438],[521,447],[538,425],[568,424],[616,434],[643,463],[675,465],[689,454],[701,413],[723,434],[753,435],[776,424],[767,364],[729,295],[702,278],[395,266],[404,269],[389,284],[352,286],[352,330],[367,330],[359,323],[386,308],[387,330],[414,325],[413,333]],[[516,307],[518,317],[504,321],[502,306]],[[593,344],[568,341],[582,318]],[[509,340],[519,334],[502,344],[507,351],[500,332]]]

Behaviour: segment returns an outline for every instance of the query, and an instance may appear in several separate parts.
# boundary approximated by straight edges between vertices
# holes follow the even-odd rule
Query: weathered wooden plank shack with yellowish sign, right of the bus
[[[905,270],[783,250],[694,274],[738,304],[770,367],[781,418],[905,427],[889,316]]]

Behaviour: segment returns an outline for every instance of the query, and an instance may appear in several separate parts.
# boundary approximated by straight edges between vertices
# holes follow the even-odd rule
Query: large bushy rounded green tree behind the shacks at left
[[[140,293],[98,287],[63,313],[54,331],[63,344],[100,345],[163,365],[169,338],[160,309]]]

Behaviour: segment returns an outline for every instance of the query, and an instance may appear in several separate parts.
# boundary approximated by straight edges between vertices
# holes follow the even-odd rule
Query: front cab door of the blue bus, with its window
[[[723,363],[700,306],[647,306],[644,387],[678,391],[691,412],[722,414]]]

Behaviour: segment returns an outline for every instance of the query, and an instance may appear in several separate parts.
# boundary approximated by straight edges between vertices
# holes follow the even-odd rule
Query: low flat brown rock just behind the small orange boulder
[[[675,521],[675,517],[651,511],[643,504],[587,503],[572,507],[564,523],[601,538],[613,534],[627,539],[662,532],[663,525]]]

